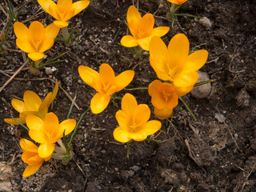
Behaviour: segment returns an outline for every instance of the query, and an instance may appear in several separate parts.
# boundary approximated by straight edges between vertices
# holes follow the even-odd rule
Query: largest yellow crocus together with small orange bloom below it
[[[154,112],[160,119],[170,117],[171,108],[177,106],[178,98],[193,89],[198,81],[196,71],[206,63],[207,50],[197,50],[192,54],[189,51],[190,42],[185,34],[171,38],[168,48],[161,38],[154,37],[150,41],[150,65],[158,78],[171,83],[152,82],[149,87]]]

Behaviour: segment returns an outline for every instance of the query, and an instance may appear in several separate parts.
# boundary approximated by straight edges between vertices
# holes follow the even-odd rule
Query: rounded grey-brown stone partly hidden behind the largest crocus
[[[197,71],[199,74],[198,82],[205,82],[210,80],[209,75],[206,72]],[[190,94],[194,98],[206,98],[210,94],[211,85],[210,82],[203,84],[202,86],[196,86],[190,91]]]

